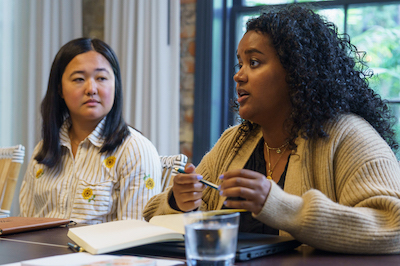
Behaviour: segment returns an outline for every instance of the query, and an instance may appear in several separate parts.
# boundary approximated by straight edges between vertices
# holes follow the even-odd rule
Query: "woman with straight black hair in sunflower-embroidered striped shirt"
[[[42,136],[20,191],[22,216],[95,224],[141,219],[161,191],[153,144],[122,117],[117,56],[79,38],[57,53],[42,102]]]

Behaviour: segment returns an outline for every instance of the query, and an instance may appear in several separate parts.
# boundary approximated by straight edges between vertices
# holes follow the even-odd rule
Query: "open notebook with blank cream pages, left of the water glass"
[[[168,224],[163,223],[162,219],[155,219],[156,223],[163,223],[162,226],[142,220],[118,220],[69,228],[67,236],[91,254],[103,254],[157,242],[182,241],[184,228],[179,229],[179,226],[175,225],[180,223],[183,227],[183,217],[181,214],[172,215],[173,217],[163,215]],[[174,224],[174,221],[178,222]]]

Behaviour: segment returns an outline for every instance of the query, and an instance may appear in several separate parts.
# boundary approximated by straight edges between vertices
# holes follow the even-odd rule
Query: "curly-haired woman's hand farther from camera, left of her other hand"
[[[177,174],[172,186],[176,207],[184,212],[193,211],[200,207],[205,185],[199,182],[201,175],[195,173],[193,164],[185,166],[185,174]]]

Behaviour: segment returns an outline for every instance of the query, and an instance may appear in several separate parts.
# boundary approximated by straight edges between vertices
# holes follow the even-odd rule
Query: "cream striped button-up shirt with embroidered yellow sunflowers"
[[[21,216],[87,224],[142,219],[147,201],[161,192],[160,157],[132,128],[113,152],[100,153],[104,123],[79,144],[74,158],[66,121],[60,130],[61,163],[52,168],[34,159],[42,142],[36,146],[21,185]]]

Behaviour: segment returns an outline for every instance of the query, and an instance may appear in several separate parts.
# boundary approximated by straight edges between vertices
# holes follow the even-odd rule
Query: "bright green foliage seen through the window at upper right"
[[[366,52],[374,72],[371,87],[391,102],[400,142],[400,5],[350,8],[347,32],[352,43]]]

